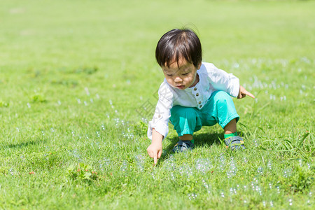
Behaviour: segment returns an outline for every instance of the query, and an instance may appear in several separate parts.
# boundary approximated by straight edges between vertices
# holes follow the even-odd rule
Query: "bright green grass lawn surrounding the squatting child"
[[[6,1],[0,8],[0,209],[314,209],[314,1]],[[246,151],[217,125],[157,166],[146,122],[169,29],[257,97]]]

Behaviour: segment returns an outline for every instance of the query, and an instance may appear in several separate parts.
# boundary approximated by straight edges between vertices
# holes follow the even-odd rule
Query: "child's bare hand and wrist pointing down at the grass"
[[[158,163],[158,159],[160,159],[162,155],[162,139],[162,134],[160,134],[153,128],[152,142],[151,145],[148,146],[146,151],[148,152],[148,155],[154,159],[154,164]]]

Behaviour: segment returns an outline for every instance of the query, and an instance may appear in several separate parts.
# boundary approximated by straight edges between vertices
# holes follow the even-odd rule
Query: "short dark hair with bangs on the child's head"
[[[155,58],[160,66],[169,67],[172,62],[184,58],[187,62],[198,66],[202,62],[202,46],[200,39],[192,29],[173,29],[164,34],[155,50]]]

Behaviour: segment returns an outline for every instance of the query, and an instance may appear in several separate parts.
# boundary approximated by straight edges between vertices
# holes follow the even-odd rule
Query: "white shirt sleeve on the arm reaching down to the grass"
[[[167,88],[167,85],[162,83],[159,89],[159,100],[155,108],[153,119],[148,123],[148,138],[152,140],[153,128],[160,134],[163,139],[169,133],[169,118],[173,106],[174,93]]]

